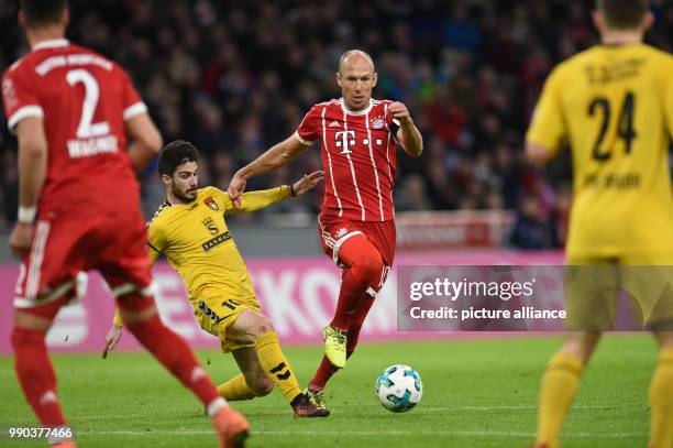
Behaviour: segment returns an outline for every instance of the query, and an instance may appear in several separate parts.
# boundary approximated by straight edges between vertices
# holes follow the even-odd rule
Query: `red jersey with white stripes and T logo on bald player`
[[[304,144],[321,141],[326,214],[361,221],[395,218],[397,120],[391,101],[369,100],[362,111],[350,111],[343,99],[311,108],[295,136]]]

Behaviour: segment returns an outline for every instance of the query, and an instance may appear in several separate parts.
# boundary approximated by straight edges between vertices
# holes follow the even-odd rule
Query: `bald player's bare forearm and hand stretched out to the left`
[[[239,170],[227,189],[234,207],[239,208],[241,206],[241,197],[243,192],[245,192],[245,183],[249,178],[287,165],[307,147],[308,146],[297,140],[295,135],[290,135],[280,143],[269,147],[264,154],[260,155],[246,166]]]

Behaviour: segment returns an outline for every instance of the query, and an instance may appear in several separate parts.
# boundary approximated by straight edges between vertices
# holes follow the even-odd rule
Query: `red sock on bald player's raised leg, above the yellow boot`
[[[364,236],[345,240],[339,250],[339,261],[346,267],[341,281],[334,318],[330,325],[347,330],[351,317],[367,289],[371,287],[375,293],[378,292],[384,265],[380,254]]]

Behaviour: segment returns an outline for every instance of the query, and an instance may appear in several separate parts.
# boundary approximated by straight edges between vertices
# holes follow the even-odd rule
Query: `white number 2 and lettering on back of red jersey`
[[[66,72],[65,78],[69,86],[82,85],[84,100],[77,125],[76,139],[68,139],[68,154],[71,159],[87,157],[103,153],[119,151],[118,139],[110,134],[110,124],[107,121],[93,122],[93,114],[100,98],[100,86],[96,77],[87,70],[86,66],[96,66],[108,72],[112,63],[90,54],[70,54],[67,56],[52,56],[35,67],[40,76],[45,76],[54,68],[78,66]]]

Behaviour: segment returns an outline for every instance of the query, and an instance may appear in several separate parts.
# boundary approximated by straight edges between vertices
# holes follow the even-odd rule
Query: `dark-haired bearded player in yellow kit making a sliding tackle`
[[[278,335],[260,309],[252,282],[227,229],[224,216],[251,212],[311,189],[322,172],[311,173],[290,186],[246,193],[234,208],[227,193],[216,187],[198,188],[198,152],[189,142],[175,141],[158,157],[158,172],[166,187],[166,201],[147,225],[152,263],[163,253],[180,274],[201,328],[220,338],[223,352],[231,352],[240,374],[218,387],[227,400],[267,395],[274,384],[297,417],[324,417],[329,411],[312,404],[299,389],[289,361],[280,351]],[[108,334],[106,351],[122,332],[119,313]]]

